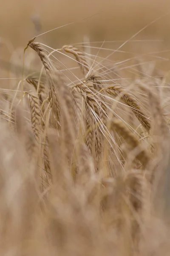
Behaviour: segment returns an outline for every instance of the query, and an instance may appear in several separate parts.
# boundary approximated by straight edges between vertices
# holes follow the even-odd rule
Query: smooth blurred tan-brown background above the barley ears
[[[119,41],[126,41],[168,11],[169,0],[1,1],[0,58],[10,59],[14,49],[23,49],[35,35],[72,22],[75,23],[48,32],[36,41],[59,48],[63,44],[83,42],[88,36],[91,42],[117,41],[102,46],[117,49],[122,44]],[[140,41],[144,39],[147,41]],[[125,44],[118,59],[128,57],[125,51],[136,54],[156,52],[154,60],[162,69],[169,69],[170,14],[152,23],[133,40],[139,41]]]

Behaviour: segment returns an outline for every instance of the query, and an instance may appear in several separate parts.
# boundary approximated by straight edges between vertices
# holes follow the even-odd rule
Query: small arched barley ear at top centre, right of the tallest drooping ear
[[[62,47],[65,52],[69,52],[73,54],[82,70],[82,73],[84,76],[88,73],[90,67],[88,65],[88,62],[86,61],[84,52],[80,51],[78,48],[72,46],[72,45],[65,45]]]

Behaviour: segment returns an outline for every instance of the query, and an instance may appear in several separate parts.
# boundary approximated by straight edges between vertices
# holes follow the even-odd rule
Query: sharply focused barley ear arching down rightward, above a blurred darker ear
[[[150,122],[145,117],[144,113],[142,112],[141,108],[137,104],[136,100],[133,99],[132,96],[130,96],[128,93],[122,89],[122,87],[115,85],[115,86],[109,86],[104,88],[107,93],[109,93],[112,96],[119,96],[121,94],[121,99],[132,109],[133,113],[137,117],[137,119],[141,122],[143,127],[149,132],[150,131]]]

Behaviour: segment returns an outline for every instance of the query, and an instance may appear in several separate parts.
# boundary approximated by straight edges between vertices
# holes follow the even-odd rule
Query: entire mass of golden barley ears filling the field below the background
[[[1,93],[0,255],[169,255],[166,77],[139,61],[122,79],[76,45],[28,50],[39,75],[23,67]]]

